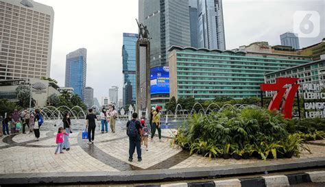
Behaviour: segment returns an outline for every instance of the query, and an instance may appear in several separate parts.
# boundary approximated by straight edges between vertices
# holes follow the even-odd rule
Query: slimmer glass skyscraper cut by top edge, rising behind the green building
[[[197,0],[199,48],[226,50],[222,0]]]

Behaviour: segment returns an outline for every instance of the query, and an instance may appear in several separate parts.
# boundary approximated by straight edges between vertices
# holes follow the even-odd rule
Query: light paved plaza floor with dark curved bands
[[[272,160],[224,160],[208,159],[202,155],[191,155],[170,146],[173,129],[163,129],[163,142],[149,142],[149,151],[143,149],[142,162],[128,162],[128,136],[125,122],[117,122],[117,132],[101,134],[96,130],[95,144],[87,145],[81,132],[70,136],[71,150],[54,155],[56,132],[41,131],[40,139],[34,134],[19,134],[0,138],[0,174],[3,173],[47,173],[78,171],[136,171],[152,169],[181,169],[232,164],[256,164]],[[325,155],[324,141],[308,145],[313,154],[303,152],[301,158],[322,157]],[[136,158],[136,153],[134,155]],[[299,158],[280,159],[294,162]]]

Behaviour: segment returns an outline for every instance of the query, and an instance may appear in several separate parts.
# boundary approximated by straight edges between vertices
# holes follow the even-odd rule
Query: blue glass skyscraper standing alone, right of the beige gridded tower
[[[74,89],[84,101],[86,88],[87,49],[80,48],[67,54],[65,65],[65,87]]]

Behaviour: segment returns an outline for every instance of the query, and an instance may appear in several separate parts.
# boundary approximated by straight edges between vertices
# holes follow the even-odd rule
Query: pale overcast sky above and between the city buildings
[[[51,78],[64,86],[65,56],[85,47],[87,53],[87,86],[94,95],[108,96],[108,88],[119,86],[122,98],[123,32],[136,33],[137,0],[35,0],[54,9],[54,32]],[[180,0],[174,0],[180,1]],[[234,49],[256,41],[280,44],[280,34],[293,31],[296,11],[316,11],[324,23],[324,0],[224,0],[226,48]],[[300,47],[320,42],[325,37],[324,25],[314,38],[300,38]]]

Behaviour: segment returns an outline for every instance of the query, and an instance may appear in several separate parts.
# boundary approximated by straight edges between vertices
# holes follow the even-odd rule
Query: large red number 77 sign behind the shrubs
[[[292,118],[292,106],[295,99],[296,92],[300,86],[297,84],[299,78],[291,77],[278,77],[275,84],[261,84],[262,91],[276,91],[272,101],[269,103],[268,110],[280,110],[280,104],[283,95],[285,95],[285,101],[282,102],[282,114],[285,118]],[[291,84],[289,88],[285,88],[286,84]]]

